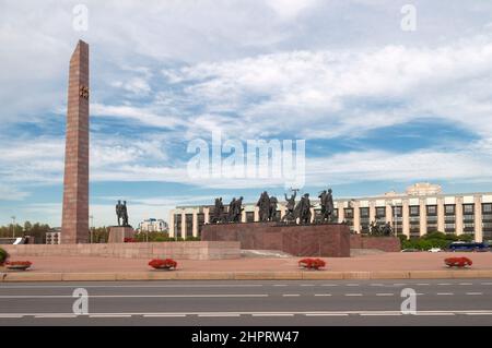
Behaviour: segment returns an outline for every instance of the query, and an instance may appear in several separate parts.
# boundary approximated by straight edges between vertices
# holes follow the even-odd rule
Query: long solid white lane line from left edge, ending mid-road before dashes
[[[89,298],[243,298],[268,297],[268,293],[196,293],[196,295],[90,295]],[[13,295],[0,299],[67,299],[71,295]]]

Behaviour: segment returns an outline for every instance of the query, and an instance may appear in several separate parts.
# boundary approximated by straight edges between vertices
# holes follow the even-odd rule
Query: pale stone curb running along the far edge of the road
[[[113,281],[113,280],[342,280],[342,279],[466,279],[492,278],[492,269],[375,271],[375,272],[108,272],[108,273],[0,273],[9,281]]]

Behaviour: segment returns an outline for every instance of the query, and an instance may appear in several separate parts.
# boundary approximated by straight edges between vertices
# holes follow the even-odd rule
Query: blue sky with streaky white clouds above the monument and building
[[[194,176],[192,144],[212,152],[214,132],[244,156],[248,140],[304,141],[297,187],[312,194],[420,181],[492,191],[491,1],[0,0],[0,225],[61,225],[79,39],[91,55],[94,226],[116,224],[117,200],[137,226],[176,205],[289,192],[273,175]]]

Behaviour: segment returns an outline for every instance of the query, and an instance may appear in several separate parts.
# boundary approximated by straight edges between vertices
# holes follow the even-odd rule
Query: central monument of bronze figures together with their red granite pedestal
[[[259,223],[238,223],[242,201],[233,199],[226,223],[220,219],[223,207],[220,199],[215,200],[214,218],[211,224],[203,225],[203,241],[239,241],[242,249],[281,250],[295,256],[350,256],[350,229],[344,224],[332,221],[333,200],[331,189],[319,195],[321,219],[313,219],[309,194],[304,193],[297,204],[295,197],[298,190],[290,197],[285,194],[285,214],[277,213],[278,199],[267,191],[260,194],[256,203]]]

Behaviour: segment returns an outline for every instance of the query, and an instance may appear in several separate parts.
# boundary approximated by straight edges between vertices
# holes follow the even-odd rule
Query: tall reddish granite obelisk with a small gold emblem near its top
[[[70,59],[61,243],[89,237],[89,45],[79,40]]]

